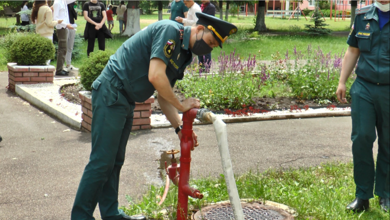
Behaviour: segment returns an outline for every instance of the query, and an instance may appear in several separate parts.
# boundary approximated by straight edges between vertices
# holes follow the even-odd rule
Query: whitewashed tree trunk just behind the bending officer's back
[[[128,1],[126,30],[122,35],[131,37],[141,30],[139,24],[139,1]]]

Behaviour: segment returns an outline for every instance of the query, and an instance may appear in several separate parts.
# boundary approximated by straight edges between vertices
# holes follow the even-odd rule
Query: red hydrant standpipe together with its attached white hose
[[[187,220],[188,215],[188,197],[202,199],[203,195],[200,194],[199,190],[194,189],[189,185],[190,180],[190,164],[191,164],[191,150],[194,149],[194,138],[193,138],[193,123],[195,117],[199,121],[212,122],[215,129],[215,135],[218,142],[219,153],[222,160],[222,168],[225,175],[225,183],[228,188],[228,194],[232,210],[234,213],[235,220],[244,220],[244,214],[242,212],[240,198],[238,196],[237,186],[234,180],[234,173],[232,169],[232,161],[230,159],[227,130],[226,124],[218,119],[215,114],[207,109],[191,109],[183,113],[183,128],[181,129],[181,140],[180,140],[180,165],[176,164],[176,159],[172,159],[172,165],[166,168],[167,178],[171,179],[175,185],[178,185],[178,199],[177,199],[177,220]],[[174,150],[172,150],[174,151]],[[172,152],[171,151],[171,152]],[[176,152],[177,153],[177,152]],[[172,153],[175,154],[175,153]],[[165,165],[166,166],[166,165]],[[176,173],[179,172],[177,176]],[[177,184],[178,179],[178,184]],[[168,182],[169,184],[169,182]],[[164,192],[163,199],[165,199],[166,192]]]

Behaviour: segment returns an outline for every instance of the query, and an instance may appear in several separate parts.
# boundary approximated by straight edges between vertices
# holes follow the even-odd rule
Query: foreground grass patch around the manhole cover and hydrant
[[[297,220],[385,220],[389,213],[379,208],[378,198],[370,200],[370,210],[361,214],[346,212],[346,205],[355,196],[352,163],[330,163],[309,168],[272,169],[264,173],[250,171],[236,177],[237,189],[241,199],[254,201],[269,200],[290,206],[296,212]],[[224,178],[192,180],[192,186],[204,193],[202,200],[190,198],[190,208],[202,207],[219,201],[228,201]],[[156,205],[156,196],[162,195],[164,188],[151,186],[140,201],[132,201],[130,206],[122,207],[127,214],[142,212],[156,218],[155,210],[167,208],[172,218],[171,207],[176,207],[177,187],[172,186],[165,202]],[[174,211],[175,208],[174,208]],[[157,219],[157,218],[156,218]]]

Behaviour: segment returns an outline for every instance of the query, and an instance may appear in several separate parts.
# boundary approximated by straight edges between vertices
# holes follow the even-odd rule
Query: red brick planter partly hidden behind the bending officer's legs
[[[92,97],[91,92],[79,92],[78,96],[81,99],[81,130],[91,132],[92,124]],[[134,109],[134,121],[132,130],[151,129],[150,116],[152,115],[152,103],[155,98],[152,96],[143,103],[136,102]]]

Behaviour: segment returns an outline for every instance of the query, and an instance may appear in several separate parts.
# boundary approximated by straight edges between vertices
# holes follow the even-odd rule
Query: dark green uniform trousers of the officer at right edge
[[[374,192],[379,197],[389,198],[390,86],[370,83],[357,77],[351,86],[350,93],[355,195],[360,199],[368,200],[373,198],[372,192]],[[375,168],[372,147],[376,134],[378,135],[378,155]]]

